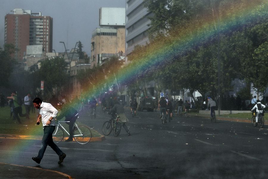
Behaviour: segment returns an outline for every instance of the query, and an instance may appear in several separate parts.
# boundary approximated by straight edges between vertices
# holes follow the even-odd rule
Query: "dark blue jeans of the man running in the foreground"
[[[60,148],[53,142],[52,134],[54,130],[55,130],[55,126],[44,126],[44,135],[42,139],[42,145],[37,156],[40,158],[40,160],[44,156],[47,145],[49,145],[57,153],[57,155],[59,156],[63,155],[63,152],[60,150]]]

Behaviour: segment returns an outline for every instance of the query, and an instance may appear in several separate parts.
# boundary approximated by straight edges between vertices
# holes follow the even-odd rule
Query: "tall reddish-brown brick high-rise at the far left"
[[[14,9],[5,16],[5,44],[14,44],[13,57],[22,61],[27,45],[42,45],[45,53],[52,52],[53,19],[32,13],[31,10]]]

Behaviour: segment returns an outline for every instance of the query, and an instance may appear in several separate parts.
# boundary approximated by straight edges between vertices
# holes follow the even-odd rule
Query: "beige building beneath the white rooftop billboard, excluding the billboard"
[[[96,28],[91,38],[91,68],[112,56],[124,56],[125,27]]]

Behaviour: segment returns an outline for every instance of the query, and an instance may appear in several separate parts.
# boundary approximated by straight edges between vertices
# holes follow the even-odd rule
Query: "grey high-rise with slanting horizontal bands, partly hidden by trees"
[[[149,43],[147,30],[153,14],[144,7],[143,0],[127,0],[126,4],[126,55],[130,54],[135,45]]]

